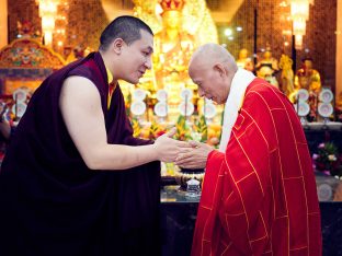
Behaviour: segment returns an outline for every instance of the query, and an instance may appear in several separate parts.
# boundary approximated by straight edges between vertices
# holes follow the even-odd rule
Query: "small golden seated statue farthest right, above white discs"
[[[301,68],[296,72],[295,86],[296,89],[306,89],[315,94],[320,92],[320,74],[312,68],[311,58],[305,58],[301,60]]]

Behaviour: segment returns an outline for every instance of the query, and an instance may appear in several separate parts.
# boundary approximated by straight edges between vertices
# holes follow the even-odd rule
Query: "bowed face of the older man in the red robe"
[[[192,81],[198,86],[198,95],[224,104],[227,101],[230,80],[221,72],[220,67],[192,61],[189,67]]]

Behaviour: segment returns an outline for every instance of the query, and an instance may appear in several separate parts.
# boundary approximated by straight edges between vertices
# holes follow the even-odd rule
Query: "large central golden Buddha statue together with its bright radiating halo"
[[[168,92],[168,120],[175,121],[184,88],[193,90],[196,105],[197,86],[187,74],[194,48],[208,42],[218,43],[217,30],[205,0],[133,0],[134,15],[145,21],[155,33],[152,69],[136,86],[151,92]]]

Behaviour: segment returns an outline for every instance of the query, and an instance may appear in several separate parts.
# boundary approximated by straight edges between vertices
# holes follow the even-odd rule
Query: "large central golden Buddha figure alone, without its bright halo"
[[[162,30],[155,35],[153,71],[157,89],[167,86],[173,72],[190,81],[187,65],[195,38],[182,28],[184,0],[161,0]]]

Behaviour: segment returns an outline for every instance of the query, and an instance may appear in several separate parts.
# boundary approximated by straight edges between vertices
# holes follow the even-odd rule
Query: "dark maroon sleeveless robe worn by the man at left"
[[[160,255],[160,163],[89,170],[59,109],[70,75],[95,84],[109,143],[151,143],[133,138],[119,86],[107,108],[99,53],[53,73],[32,96],[1,167],[0,255]]]

